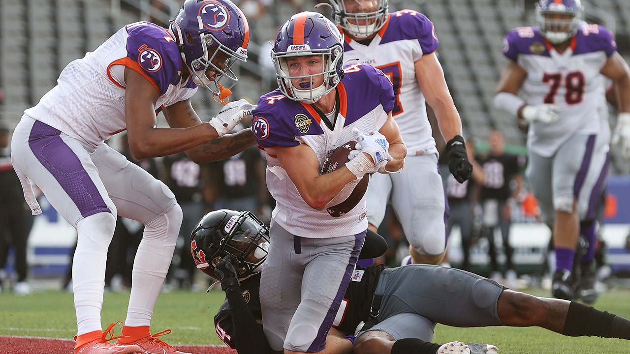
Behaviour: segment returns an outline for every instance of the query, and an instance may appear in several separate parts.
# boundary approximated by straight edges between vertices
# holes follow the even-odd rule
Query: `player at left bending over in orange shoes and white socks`
[[[33,214],[41,212],[30,181],[77,230],[72,263],[77,336],[74,354],[180,353],[151,334],[157,295],[173,257],[182,220],[173,193],[104,144],[127,130],[137,159],[186,151],[200,163],[223,159],[255,142],[248,130],[225,135],[251,114],[228,103],[202,123],[190,97],[198,86],[226,101],[222,87],[247,58],[246,18],[229,0],[186,0],[168,29],[149,22],[124,26],[61,72],[57,86],[25,111],[13,135],[13,162]],[[163,111],[170,128],[156,127]],[[221,138],[219,138],[221,137]],[[117,215],[142,222],[122,335],[101,327],[107,249]]]

